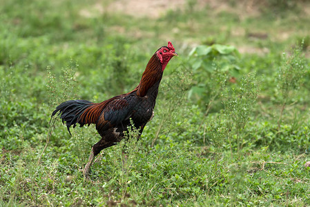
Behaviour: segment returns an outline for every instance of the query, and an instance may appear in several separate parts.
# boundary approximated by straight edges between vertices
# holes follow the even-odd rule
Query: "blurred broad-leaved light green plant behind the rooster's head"
[[[194,99],[200,106],[212,101],[214,73],[226,72],[230,77],[238,77],[238,57],[239,52],[233,46],[213,44],[193,48],[188,55],[188,63],[193,68],[195,82],[188,92],[188,98]]]

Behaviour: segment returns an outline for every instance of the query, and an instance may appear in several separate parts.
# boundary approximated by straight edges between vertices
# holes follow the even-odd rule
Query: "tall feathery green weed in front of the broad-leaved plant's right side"
[[[217,148],[222,146],[224,139],[228,139],[233,159],[233,148],[235,148],[233,142],[237,141],[238,157],[244,145],[244,127],[255,107],[258,82],[255,74],[249,74],[242,77],[238,85],[231,88],[225,85],[222,87],[225,87],[221,93],[224,110],[215,121],[208,124],[208,131],[211,132],[211,139]]]

